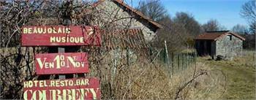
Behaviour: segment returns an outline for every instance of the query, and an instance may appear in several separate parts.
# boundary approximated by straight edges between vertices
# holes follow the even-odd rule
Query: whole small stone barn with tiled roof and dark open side
[[[198,55],[211,55],[215,58],[222,55],[230,58],[243,50],[244,37],[231,31],[208,31],[195,38],[195,48]]]

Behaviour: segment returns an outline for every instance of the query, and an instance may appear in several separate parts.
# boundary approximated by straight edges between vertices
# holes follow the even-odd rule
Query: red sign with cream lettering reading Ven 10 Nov
[[[36,54],[37,74],[72,74],[89,72],[87,53]]]

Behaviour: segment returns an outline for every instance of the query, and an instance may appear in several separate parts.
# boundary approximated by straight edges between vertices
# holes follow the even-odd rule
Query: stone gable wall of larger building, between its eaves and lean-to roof
[[[141,28],[146,42],[150,42],[154,39],[154,28],[148,26],[148,22],[138,20],[138,18],[132,18],[132,15],[124,11],[124,9],[113,1],[106,0],[102,2],[97,6],[97,10],[101,18],[98,19],[98,22],[111,22],[111,24],[116,24],[119,28]]]

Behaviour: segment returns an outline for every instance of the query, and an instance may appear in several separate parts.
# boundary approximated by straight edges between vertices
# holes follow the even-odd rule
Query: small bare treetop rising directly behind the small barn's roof
[[[224,26],[221,26],[217,20],[208,20],[207,23],[204,23],[203,31],[222,31],[225,30]]]

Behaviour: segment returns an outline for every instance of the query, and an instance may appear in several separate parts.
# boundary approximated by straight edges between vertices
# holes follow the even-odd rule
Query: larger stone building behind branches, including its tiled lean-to
[[[148,42],[152,42],[162,26],[125,4],[123,0],[98,0],[92,4],[91,25],[99,26],[102,32],[101,50],[107,55],[102,61],[116,72],[120,65],[129,65],[148,57]]]

